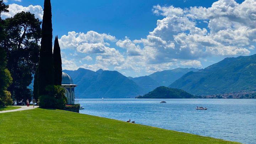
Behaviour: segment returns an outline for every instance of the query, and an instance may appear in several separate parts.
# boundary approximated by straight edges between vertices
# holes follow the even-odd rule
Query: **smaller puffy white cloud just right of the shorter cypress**
[[[117,66],[124,63],[124,56],[116,48],[109,47],[108,42],[116,41],[114,36],[106,33],[95,31],[87,33],[68,32],[68,35],[59,39],[59,44],[63,50],[73,49],[82,54],[95,54],[95,64],[83,64],[80,67],[96,70],[99,68],[108,69],[108,66]],[[93,59],[86,56],[82,60],[92,61]]]

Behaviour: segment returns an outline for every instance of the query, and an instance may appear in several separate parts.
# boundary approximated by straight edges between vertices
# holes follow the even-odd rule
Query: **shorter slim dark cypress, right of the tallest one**
[[[54,85],[61,85],[62,83],[62,60],[60,55],[60,46],[58,36],[54,40],[53,48],[53,66],[54,66]]]

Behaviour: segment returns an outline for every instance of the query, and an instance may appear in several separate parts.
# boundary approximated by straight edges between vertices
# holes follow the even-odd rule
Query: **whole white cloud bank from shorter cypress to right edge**
[[[211,7],[153,6],[164,16],[140,39],[116,39],[110,34],[69,32],[59,39],[62,49],[95,55],[82,67],[153,73],[175,67],[202,68],[200,59],[249,55],[256,42],[256,1],[219,0]],[[204,23],[204,25],[199,25]],[[112,46],[115,42],[116,46]],[[111,43],[111,44],[110,44]],[[119,52],[118,48],[121,48]],[[91,57],[83,60],[91,61]]]

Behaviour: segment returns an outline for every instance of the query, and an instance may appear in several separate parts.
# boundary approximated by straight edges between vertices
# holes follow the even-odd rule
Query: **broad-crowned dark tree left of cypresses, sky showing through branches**
[[[32,74],[38,65],[40,25],[34,14],[24,11],[4,20],[7,36],[2,45],[7,54],[7,68],[13,78],[8,90],[18,100],[31,98],[31,90],[27,86],[31,84]]]

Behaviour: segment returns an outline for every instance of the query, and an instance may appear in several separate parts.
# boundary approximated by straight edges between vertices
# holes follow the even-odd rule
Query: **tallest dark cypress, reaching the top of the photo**
[[[47,95],[46,86],[54,85],[52,53],[52,6],[50,0],[44,0],[42,39],[38,65],[38,95]]]

